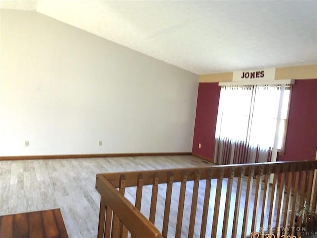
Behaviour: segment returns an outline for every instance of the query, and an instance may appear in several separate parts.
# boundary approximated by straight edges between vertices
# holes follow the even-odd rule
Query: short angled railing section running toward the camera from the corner
[[[96,189],[101,194],[98,238],[135,237],[159,238],[159,230],[150,223],[125,197],[125,179],[119,176],[119,191],[103,176],[97,175]]]

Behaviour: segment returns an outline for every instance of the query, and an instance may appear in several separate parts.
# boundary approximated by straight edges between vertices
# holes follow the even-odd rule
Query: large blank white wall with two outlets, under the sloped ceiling
[[[1,10],[1,156],[191,151],[197,90],[195,74]]]

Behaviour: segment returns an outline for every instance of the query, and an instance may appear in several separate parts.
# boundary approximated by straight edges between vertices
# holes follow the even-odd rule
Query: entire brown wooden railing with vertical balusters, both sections
[[[307,232],[305,229],[308,227],[307,221],[298,217],[299,211],[303,210],[303,204],[306,204],[312,214],[317,213],[316,177],[317,161],[98,174],[96,189],[101,195],[98,238],[127,238],[129,233],[135,238],[166,238],[171,220],[176,221],[176,238],[184,234],[189,238],[210,237],[207,231],[211,233],[211,238],[256,238],[259,234],[259,237],[274,235],[277,238],[289,234],[292,238],[299,238],[303,236],[302,231]],[[212,184],[216,181],[216,186],[213,186],[211,181]],[[193,183],[190,194],[191,210],[190,213],[184,214],[185,197],[189,193],[186,189],[188,182]],[[204,183],[205,187],[201,200],[198,199],[200,182]],[[178,209],[177,213],[171,214],[175,183],[179,186]],[[160,219],[161,231],[154,226],[159,184],[166,184],[164,205],[159,204],[164,209]],[[140,212],[145,185],[152,185],[149,219]],[[135,205],[124,197],[127,187],[136,187]],[[221,196],[222,192],[225,196]],[[211,194],[214,193],[214,203],[211,204]],[[220,209],[221,202],[225,205]],[[197,205],[202,207],[199,214]],[[234,209],[230,209],[233,207]],[[208,214],[212,210],[210,221]],[[184,217],[188,222],[187,231],[182,230]],[[197,224],[200,227],[197,227]]]

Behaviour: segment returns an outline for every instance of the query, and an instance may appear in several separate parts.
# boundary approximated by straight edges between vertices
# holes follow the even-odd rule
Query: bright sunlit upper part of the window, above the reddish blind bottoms
[[[216,126],[217,146],[283,149],[290,98],[288,85],[223,86]],[[227,145],[223,145],[227,146]],[[230,149],[234,151],[234,145]],[[260,151],[260,150],[259,150]],[[251,156],[251,155],[249,155]]]

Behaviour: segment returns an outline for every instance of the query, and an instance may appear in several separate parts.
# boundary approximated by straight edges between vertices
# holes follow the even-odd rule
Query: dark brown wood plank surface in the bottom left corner
[[[1,216],[1,238],[68,238],[60,209]]]

